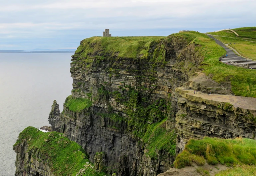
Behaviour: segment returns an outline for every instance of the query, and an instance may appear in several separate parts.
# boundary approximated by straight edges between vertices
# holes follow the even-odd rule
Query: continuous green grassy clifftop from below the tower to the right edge
[[[219,62],[218,58],[225,54],[225,50],[213,39],[199,32],[175,33],[167,37],[91,37],[81,41],[75,56],[78,57],[77,60],[81,65],[86,67],[90,67],[93,62],[99,64],[106,58],[113,60],[127,58],[136,61],[143,59],[157,63],[152,67],[159,67],[170,59],[166,53],[170,50],[170,45],[177,47],[179,44],[177,41],[185,43],[183,48],[186,45],[195,45],[194,55],[203,57],[199,67],[191,65],[190,68],[198,67],[217,83],[225,84],[230,81],[235,95],[256,97],[256,70]],[[177,49],[176,56],[179,59]],[[118,69],[116,72],[118,73]]]

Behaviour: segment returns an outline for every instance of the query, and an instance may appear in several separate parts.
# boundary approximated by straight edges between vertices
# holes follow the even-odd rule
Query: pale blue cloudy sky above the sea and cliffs
[[[0,0],[0,50],[76,49],[102,36],[256,26],[255,0]]]

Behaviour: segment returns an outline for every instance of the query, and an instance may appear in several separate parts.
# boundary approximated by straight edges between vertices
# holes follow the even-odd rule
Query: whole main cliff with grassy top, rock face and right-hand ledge
[[[71,59],[72,95],[61,114],[54,102],[49,122],[91,162],[104,152],[107,172],[119,176],[167,171],[189,138],[255,138],[253,109],[232,111],[229,101],[207,104],[176,89],[255,97],[256,72],[219,63],[224,53],[198,32],[84,39]]]

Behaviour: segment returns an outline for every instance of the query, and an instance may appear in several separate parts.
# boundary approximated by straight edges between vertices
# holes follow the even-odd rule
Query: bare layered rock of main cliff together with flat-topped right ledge
[[[151,119],[146,117],[144,123],[158,123],[163,120],[157,119],[158,113],[166,114],[163,128],[178,129],[177,153],[190,138],[255,137],[254,123],[242,118],[243,115],[249,115],[249,118],[249,112],[254,112],[244,112],[242,109],[235,112],[231,110],[231,105],[223,104],[223,100],[210,104],[196,97],[190,98],[184,95],[187,92],[182,88],[175,93],[176,88],[184,86],[204,92],[211,90],[213,93],[232,94],[230,84],[217,84],[198,72],[197,66],[203,58],[196,53],[195,48],[198,46],[193,43],[189,44],[179,37],[151,42],[145,48],[150,57],[144,59],[141,59],[141,54],[132,59],[119,57],[119,52],[111,53],[104,49],[89,52],[101,47],[101,43],[94,41],[82,41],[79,47],[83,49],[78,48],[72,56],[70,68],[73,78],[72,98],[90,99],[92,106],[72,111],[66,106],[66,99],[64,110],[59,115],[56,113],[59,112],[57,102],[54,102],[49,122],[53,129],[63,131],[70,140],[82,146],[90,155],[91,162],[95,153],[104,152],[102,162],[108,173],[156,176],[170,169],[173,164],[175,154],[155,149],[156,156],[150,157],[147,154],[148,144],[136,136],[137,131],[130,130],[128,120],[131,117],[127,113],[137,113],[138,104],[150,111],[155,107],[148,107],[158,100],[172,102],[168,108],[164,107],[170,102],[158,107],[157,113],[150,111],[147,115]],[[157,54],[159,56],[154,58]],[[195,72],[198,76],[191,77]],[[131,93],[137,94],[136,101],[127,98]],[[122,117],[123,120],[111,118],[110,115]]]

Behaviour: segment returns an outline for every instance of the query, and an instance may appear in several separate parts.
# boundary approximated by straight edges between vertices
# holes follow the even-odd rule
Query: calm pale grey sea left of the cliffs
[[[48,125],[53,100],[71,94],[72,53],[0,53],[0,176],[13,176],[19,133]]]

